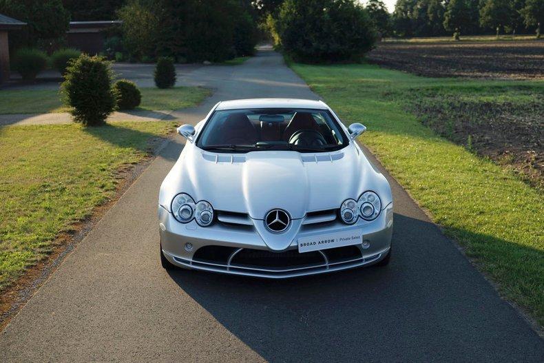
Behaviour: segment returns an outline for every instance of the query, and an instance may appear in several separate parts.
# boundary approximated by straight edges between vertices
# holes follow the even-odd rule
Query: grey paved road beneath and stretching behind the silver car
[[[188,82],[219,99],[316,98],[271,51]],[[163,150],[0,335],[0,362],[543,362],[544,344],[393,180],[394,255],[287,281],[160,269]],[[281,191],[278,191],[280,193]]]

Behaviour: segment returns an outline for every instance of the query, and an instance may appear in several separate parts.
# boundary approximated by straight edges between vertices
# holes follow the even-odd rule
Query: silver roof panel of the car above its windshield
[[[310,108],[326,110],[322,101],[298,98],[247,98],[243,100],[222,101],[216,110],[238,110],[242,108]]]

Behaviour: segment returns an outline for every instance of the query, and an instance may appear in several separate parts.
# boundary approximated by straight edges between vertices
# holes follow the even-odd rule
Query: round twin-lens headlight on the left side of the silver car
[[[213,222],[213,207],[205,200],[195,203],[189,194],[181,193],[172,200],[171,211],[178,222],[188,223],[195,218],[198,225],[207,227]]]

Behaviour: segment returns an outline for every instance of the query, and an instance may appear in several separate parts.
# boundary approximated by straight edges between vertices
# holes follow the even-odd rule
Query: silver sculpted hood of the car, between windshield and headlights
[[[299,219],[307,211],[337,208],[366,190],[377,192],[382,207],[392,200],[384,176],[353,143],[318,154],[216,154],[187,144],[163,182],[159,203],[169,210],[171,199],[185,192],[216,210],[247,213],[253,219],[264,219],[276,208]]]

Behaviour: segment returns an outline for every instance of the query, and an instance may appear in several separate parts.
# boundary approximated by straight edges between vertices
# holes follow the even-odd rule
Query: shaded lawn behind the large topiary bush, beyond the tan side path
[[[177,110],[200,103],[211,92],[203,87],[174,87],[161,90],[140,88],[142,103],[136,110]],[[0,114],[67,112],[57,90],[0,90]]]

